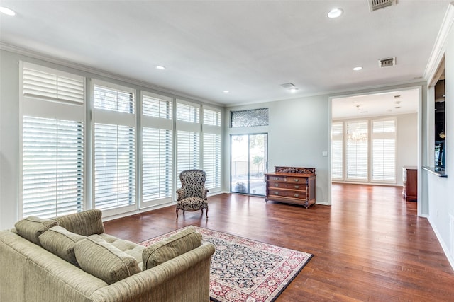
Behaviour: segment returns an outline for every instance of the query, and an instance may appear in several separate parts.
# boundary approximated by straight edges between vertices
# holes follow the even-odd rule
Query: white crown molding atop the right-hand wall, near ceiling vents
[[[435,76],[438,66],[443,60],[443,56],[446,50],[446,40],[448,39],[448,34],[454,23],[454,2],[451,2],[448,5],[448,10],[445,13],[445,18],[443,18],[443,23],[441,23],[441,28],[438,31],[438,35],[433,45],[431,52],[431,57],[428,59],[426,70],[423,73],[423,79],[431,83],[433,76]]]

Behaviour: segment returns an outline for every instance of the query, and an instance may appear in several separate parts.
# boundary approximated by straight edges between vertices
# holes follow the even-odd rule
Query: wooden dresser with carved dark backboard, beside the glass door
[[[315,168],[275,167],[275,172],[266,173],[265,178],[265,202],[301,204],[306,209],[315,204]]]

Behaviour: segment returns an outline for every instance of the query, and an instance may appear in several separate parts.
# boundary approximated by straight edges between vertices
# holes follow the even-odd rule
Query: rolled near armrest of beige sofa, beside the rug
[[[92,301],[209,301],[211,255],[204,243],[167,262],[94,291]]]

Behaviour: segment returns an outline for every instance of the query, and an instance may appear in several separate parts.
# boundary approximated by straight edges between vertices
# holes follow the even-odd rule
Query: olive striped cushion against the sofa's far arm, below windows
[[[102,212],[99,209],[81,211],[79,213],[60,216],[55,219],[59,226],[66,228],[72,233],[82,236],[104,233]]]

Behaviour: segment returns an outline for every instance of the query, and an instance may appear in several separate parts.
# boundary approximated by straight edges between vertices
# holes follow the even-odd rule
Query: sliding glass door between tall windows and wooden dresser
[[[231,192],[265,195],[268,134],[231,135]]]

